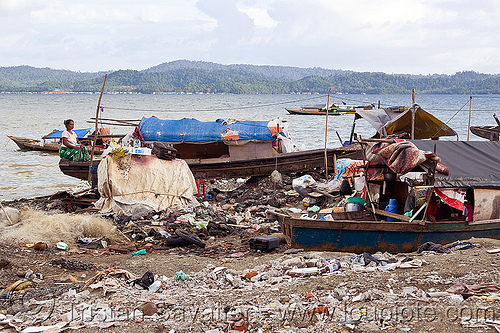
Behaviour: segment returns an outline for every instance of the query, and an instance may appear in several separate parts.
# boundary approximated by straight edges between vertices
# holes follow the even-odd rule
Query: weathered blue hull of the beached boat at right
[[[385,221],[320,221],[269,212],[281,223],[291,246],[306,250],[363,253],[411,252],[426,242],[448,244],[471,237],[500,238],[500,220],[468,223],[446,221],[408,223]]]

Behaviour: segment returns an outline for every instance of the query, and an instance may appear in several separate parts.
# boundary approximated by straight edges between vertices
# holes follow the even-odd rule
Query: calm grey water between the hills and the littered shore
[[[50,195],[83,185],[61,173],[56,154],[20,151],[7,135],[39,139],[53,129],[64,129],[63,121],[72,118],[75,128],[94,127],[98,94],[0,94],[0,201]],[[157,116],[162,119],[218,118],[269,120],[280,117],[288,122],[297,146],[323,148],[324,116],[289,115],[285,107],[326,104],[326,95],[112,95],[105,94],[101,117],[137,119]],[[411,95],[332,95],[330,101],[382,106],[411,105]],[[447,122],[461,140],[467,138],[469,95],[417,95],[424,110]],[[472,125],[494,125],[500,95],[473,96]],[[328,118],[328,147],[349,138],[353,115]],[[112,133],[125,134],[131,127],[111,127]],[[375,134],[364,120],[356,122],[363,137]],[[453,138],[452,138],[453,139]],[[471,134],[471,140],[481,140]]]

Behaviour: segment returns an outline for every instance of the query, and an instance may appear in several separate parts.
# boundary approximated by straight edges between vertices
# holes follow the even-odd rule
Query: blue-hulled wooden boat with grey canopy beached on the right
[[[268,218],[281,223],[292,247],[306,250],[395,253],[415,251],[426,242],[444,245],[471,237],[500,239],[500,210],[497,204],[500,198],[500,143],[436,140],[414,140],[412,143],[421,151],[434,149],[439,154],[438,160],[431,157],[412,169],[418,173],[420,168],[420,172],[426,174],[423,177],[426,183],[416,185],[415,180],[386,180],[385,175],[383,180],[376,177],[368,179],[365,186],[371,193],[367,199],[371,203],[366,204],[366,210],[332,212],[333,221],[321,220],[319,214],[311,219],[309,216],[302,217],[300,213],[274,211],[268,212]],[[397,149],[394,152],[404,155]],[[448,173],[436,173],[438,161],[449,168]],[[370,164],[365,174],[375,175],[370,170],[374,168],[376,171],[380,166]],[[382,170],[379,174],[384,172]],[[411,218],[402,215],[410,187],[417,192],[423,191],[419,195],[423,204]],[[457,195],[460,192],[463,193],[462,199]],[[434,199],[432,195],[435,195]],[[399,214],[376,208],[382,199],[369,199],[374,196],[384,200],[395,198],[392,200],[399,203]],[[463,199],[473,205],[470,221],[463,216]],[[428,218],[427,210],[431,200],[440,200],[443,208],[438,210],[439,213],[433,212],[432,219]],[[384,217],[391,217],[395,222],[384,221],[388,220]]]

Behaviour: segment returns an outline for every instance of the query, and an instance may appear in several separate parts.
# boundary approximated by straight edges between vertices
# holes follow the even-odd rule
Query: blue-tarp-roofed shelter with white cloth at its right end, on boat
[[[286,123],[280,119],[203,122],[190,118],[143,117],[138,129],[143,141],[170,143],[177,149],[177,157],[182,159],[229,157],[230,160],[246,160],[293,150]]]

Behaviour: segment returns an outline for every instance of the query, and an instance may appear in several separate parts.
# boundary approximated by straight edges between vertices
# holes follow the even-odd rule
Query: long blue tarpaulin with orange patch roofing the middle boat
[[[162,120],[143,117],[139,123],[139,131],[145,141],[210,142],[274,139],[267,121],[237,121],[226,124],[223,119],[199,121],[191,118]]]

